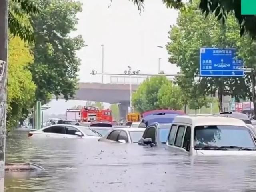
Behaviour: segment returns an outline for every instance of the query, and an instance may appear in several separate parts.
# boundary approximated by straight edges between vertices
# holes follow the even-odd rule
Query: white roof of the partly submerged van
[[[233,126],[246,126],[246,124],[236,118],[222,117],[222,116],[211,116],[211,115],[182,115],[176,116],[172,122],[175,123],[186,123],[186,124],[196,124],[196,126],[204,125],[233,125]]]

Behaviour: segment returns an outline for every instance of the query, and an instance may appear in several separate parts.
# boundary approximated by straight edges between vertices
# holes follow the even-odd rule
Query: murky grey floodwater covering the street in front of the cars
[[[256,192],[256,158],[191,157],[137,144],[84,139],[7,140],[7,162],[43,172],[7,173],[6,192]]]

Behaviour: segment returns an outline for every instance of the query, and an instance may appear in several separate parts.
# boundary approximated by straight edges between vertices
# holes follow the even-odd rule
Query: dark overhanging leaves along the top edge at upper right
[[[141,11],[142,8],[144,9],[143,4],[145,1],[146,0],[134,0],[134,3]],[[162,2],[166,4],[168,8],[180,9],[186,6],[186,3],[182,2],[182,0],[162,0]],[[194,0],[189,0],[189,2],[193,3]],[[228,18],[228,14],[234,13],[240,25],[240,32],[238,31],[238,34],[240,33],[242,36],[244,32],[248,32],[253,39],[256,38],[256,16],[241,14],[241,0],[200,0],[198,8],[205,14],[205,17],[207,17],[209,13],[214,13],[214,17],[217,18],[216,20],[220,20],[223,23]],[[204,20],[204,18],[202,20],[208,22]],[[215,18],[212,17],[211,21],[212,20],[215,20]]]

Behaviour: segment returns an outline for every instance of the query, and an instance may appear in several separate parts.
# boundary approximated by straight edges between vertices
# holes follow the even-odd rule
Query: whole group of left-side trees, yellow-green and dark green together
[[[76,31],[82,4],[72,0],[10,0],[7,130],[24,120],[29,109],[52,95],[72,98],[78,85],[84,46]]]

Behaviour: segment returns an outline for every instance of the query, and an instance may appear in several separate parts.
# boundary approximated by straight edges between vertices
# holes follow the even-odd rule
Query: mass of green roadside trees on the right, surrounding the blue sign
[[[223,25],[213,14],[205,18],[199,4],[200,0],[182,4],[177,24],[171,26],[168,36],[169,62],[178,66],[182,75],[174,82],[163,80],[162,76],[145,80],[133,96],[138,111],[154,108],[184,108],[186,111],[187,106],[199,110],[208,108],[214,96],[218,98],[220,112],[223,111],[223,96],[231,96],[237,102],[248,99],[256,104],[255,90],[252,89],[255,86],[254,71],[240,78],[199,77],[199,50],[202,47],[236,48],[245,67],[254,68],[256,63],[256,41],[248,32],[240,37],[240,26],[234,14],[230,13]],[[154,90],[151,84],[155,84]]]

